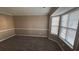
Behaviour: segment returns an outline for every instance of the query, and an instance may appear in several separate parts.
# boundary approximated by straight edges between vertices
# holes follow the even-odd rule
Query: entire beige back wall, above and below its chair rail
[[[47,36],[48,16],[14,16],[15,33],[27,36]]]

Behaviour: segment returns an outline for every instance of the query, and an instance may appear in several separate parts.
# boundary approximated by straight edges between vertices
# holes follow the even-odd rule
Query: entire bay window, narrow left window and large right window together
[[[61,16],[52,17],[51,34],[57,35],[67,45],[73,48],[77,33],[78,22],[79,8],[65,13]]]

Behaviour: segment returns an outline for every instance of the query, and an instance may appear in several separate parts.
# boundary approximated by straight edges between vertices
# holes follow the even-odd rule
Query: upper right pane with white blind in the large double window
[[[69,27],[69,28],[73,28],[73,29],[77,29],[78,20],[79,20],[79,10],[76,10],[76,11],[74,11],[74,12],[71,12],[71,13],[69,14],[68,27]]]

